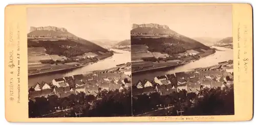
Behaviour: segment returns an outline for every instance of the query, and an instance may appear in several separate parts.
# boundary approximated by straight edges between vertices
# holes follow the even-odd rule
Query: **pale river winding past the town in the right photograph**
[[[136,83],[139,80],[143,80],[143,79],[153,80],[157,76],[162,76],[165,74],[181,72],[181,71],[189,71],[194,68],[208,67],[208,66],[216,65],[219,62],[233,60],[233,49],[218,47],[218,46],[212,46],[212,47],[217,48],[220,51],[216,51],[216,53],[209,55],[207,57],[201,58],[195,62],[189,62],[185,65],[181,65],[175,68],[132,74],[133,83]]]

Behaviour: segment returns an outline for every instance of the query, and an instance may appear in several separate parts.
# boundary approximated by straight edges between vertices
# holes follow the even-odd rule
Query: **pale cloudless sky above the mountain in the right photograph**
[[[166,24],[190,38],[232,36],[231,5],[132,7],[130,13],[131,23]]]

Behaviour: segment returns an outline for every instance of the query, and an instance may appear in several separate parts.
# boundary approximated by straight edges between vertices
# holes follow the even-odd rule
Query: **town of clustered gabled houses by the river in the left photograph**
[[[67,97],[80,92],[97,96],[98,92],[102,90],[122,92],[131,87],[131,73],[129,73],[131,65],[129,63],[127,65],[117,69],[111,68],[93,71],[89,74],[56,78],[52,82],[38,82],[29,88],[29,98],[47,97],[52,94],[58,97]]]

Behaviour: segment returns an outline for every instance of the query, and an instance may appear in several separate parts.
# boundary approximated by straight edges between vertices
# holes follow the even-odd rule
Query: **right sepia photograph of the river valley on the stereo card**
[[[234,115],[231,5],[130,14],[133,116]]]

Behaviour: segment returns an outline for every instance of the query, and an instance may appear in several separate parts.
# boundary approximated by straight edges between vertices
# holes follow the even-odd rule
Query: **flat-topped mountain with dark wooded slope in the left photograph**
[[[74,57],[87,52],[109,52],[107,49],[69,33],[65,28],[31,27],[28,47],[45,47],[47,54]]]

